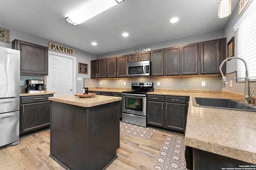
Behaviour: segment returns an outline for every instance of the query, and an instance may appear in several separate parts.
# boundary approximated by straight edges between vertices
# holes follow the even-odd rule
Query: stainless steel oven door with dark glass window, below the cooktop
[[[146,116],[146,95],[122,94],[122,112]]]

